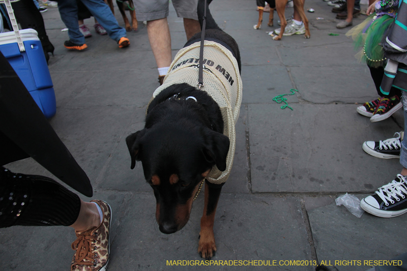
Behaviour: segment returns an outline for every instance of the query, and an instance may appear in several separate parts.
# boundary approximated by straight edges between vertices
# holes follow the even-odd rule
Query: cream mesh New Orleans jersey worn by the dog
[[[163,84],[153,93],[153,99],[165,88],[173,84],[187,83],[197,86],[200,41],[182,48],[169,66]],[[223,118],[223,134],[229,138],[230,146],[226,157],[226,170],[220,171],[216,165],[207,179],[212,184],[226,182],[233,164],[236,146],[235,125],[242,103],[242,78],[235,56],[223,45],[215,41],[205,41],[203,50],[203,87],[219,105]],[[198,101],[199,103],[199,101]]]

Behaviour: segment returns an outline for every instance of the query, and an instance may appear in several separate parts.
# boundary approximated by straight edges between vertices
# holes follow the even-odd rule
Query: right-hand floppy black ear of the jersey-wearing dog
[[[210,129],[205,131],[203,155],[210,163],[215,163],[220,171],[226,169],[226,156],[229,152],[229,138]]]

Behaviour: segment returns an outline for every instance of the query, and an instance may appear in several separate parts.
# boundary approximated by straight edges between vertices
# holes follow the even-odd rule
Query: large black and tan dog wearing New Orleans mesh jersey
[[[204,8],[199,0],[201,27]],[[163,233],[186,225],[192,202],[205,182],[198,252],[210,259],[216,252],[216,206],[235,154],[242,82],[238,45],[219,28],[209,10],[205,33],[203,87],[196,87],[199,33],[177,53],[148,105],[144,129],[129,135],[126,143],[131,168],[141,161],[144,177],[154,190],[156,220]]]

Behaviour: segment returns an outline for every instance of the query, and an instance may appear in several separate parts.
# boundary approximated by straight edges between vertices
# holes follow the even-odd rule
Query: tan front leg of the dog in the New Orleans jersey
[[[208,185],[207,181],[205,181],[205,207],[200,219],[198,253],[207,260],[214,257],[216,252],[213,224],[221,190],[221,185]]]

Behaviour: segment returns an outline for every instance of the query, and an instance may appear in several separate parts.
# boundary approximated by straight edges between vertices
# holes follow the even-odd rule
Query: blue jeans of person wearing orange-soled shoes
[[[126,29],[119,26],[118,21],[103,0],[80,0],[98,22],[105,28],[112,40],[119,42],[120,38],[126,37]],[[61,19],[68,27],[68,36],[75,44],[84,44],[85,37],[79,31],[78,6],[76,0],[58,0],[58,9]]]

